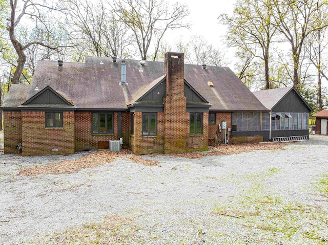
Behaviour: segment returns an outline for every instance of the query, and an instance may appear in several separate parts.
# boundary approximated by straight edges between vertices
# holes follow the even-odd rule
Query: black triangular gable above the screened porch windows
[[[295,89],[290,90],[281,100],[272,107],[273,112],[290,112],[290,113],[307,113],[312,109],[296,92]]]

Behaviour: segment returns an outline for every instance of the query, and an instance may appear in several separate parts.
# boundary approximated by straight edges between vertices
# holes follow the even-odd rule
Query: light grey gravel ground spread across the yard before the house
[[[202,159],[143,156],[160,167],[123,156],[17,176],[85,154],[0,153],[0,244],[328,244],[328,137]]]

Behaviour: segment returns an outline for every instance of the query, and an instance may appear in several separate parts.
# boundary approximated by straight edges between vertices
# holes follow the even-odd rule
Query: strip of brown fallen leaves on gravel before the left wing
[[[130,151],[99,151],[96,153],[84,155],[76,160],[65,160],[59,163],[52,163],[49,165],[33,166],[23,168],[19,171],[18,175],[21,176],[34,176],[39,174],[61,174],[72,173],[83,168],[94,168],[100,165],[104,165],[113,162],[117,157],[121,157],[130,153]]]

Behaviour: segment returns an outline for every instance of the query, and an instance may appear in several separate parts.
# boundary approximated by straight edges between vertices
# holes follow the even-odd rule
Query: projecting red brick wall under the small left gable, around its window
[[[63,128],[46,128],[45,112],[22,112],[23,155],[74,153],[74,112],[63,120]]]

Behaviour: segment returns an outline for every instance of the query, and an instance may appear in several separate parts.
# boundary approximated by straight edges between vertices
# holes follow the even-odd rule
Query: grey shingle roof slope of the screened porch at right
[[[293,87],[273,88],[272,90],[260,90],[253,94],[261,101],[261,103],[272,109]]]

